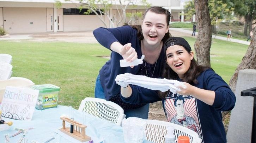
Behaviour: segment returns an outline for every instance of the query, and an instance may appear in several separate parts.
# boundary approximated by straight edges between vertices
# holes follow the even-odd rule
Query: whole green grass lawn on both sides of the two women
[[[185,37],[194,50],[195,38]],[[211,66],[228,83],[248,46],[214,40]],[[59,104],[78,108],[85,97],[94,97],[95,79],[110,51],[99,44],[0,41],[0,53],[12,55],[12,76],[35,84],[61,88]]]

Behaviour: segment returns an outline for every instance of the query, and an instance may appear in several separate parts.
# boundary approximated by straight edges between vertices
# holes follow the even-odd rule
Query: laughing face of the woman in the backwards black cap
[[[194,53],[188,53],[183,46],[173,45],[166,50],[166,62],[180,79],[188,71],[193,58]]]

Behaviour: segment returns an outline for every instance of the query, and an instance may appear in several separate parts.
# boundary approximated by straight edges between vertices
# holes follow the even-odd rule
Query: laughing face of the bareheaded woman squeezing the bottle
[[[148,45],[158,44],[169,30],[166,23],[166,15],[148,11],[142,21],[141,28],[144,40]]]

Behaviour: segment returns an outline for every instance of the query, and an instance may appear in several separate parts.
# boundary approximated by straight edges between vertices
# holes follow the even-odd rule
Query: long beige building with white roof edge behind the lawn
[[[142,12],[144,7],[140,0],[136,5],[138,7],[128,6],[127,13]],[[87,9],[79,12],[78,3],[61,1],[62,6],[57,8],[55,0],[0,0],[0,26],[3,27],[7,33],[40,33],[40,32],[69,32],[69,31],[86,31],[93,30],[97,27],[104,27],[104,24],[98,16],[94,13],[90,15],[83,14]],[[147,0],[151,6],[170,6],[180,7],[180,0]],[[173,20],[181,19],[177,10],[173,7]],[[169,9],[169,8],[167,8]],[[120,19],[118,11],[121,8],[118,0],[113,4],[109,10],[110,20],[114,23],[114,27]],[[176,12],[177,11],[177,12]],[[108,26],[110,20],[103,15],[103,19]],[[130,19],[130,18],[127,18]],[[133,17],[132,24],[140,24],[141,17]],[[120,23],[118,26],[121,26]]]

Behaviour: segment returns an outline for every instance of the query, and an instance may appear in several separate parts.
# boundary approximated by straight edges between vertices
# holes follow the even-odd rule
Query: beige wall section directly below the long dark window
[[[97,15],[63,15],[63,31],[85,31],[104,27]]]

